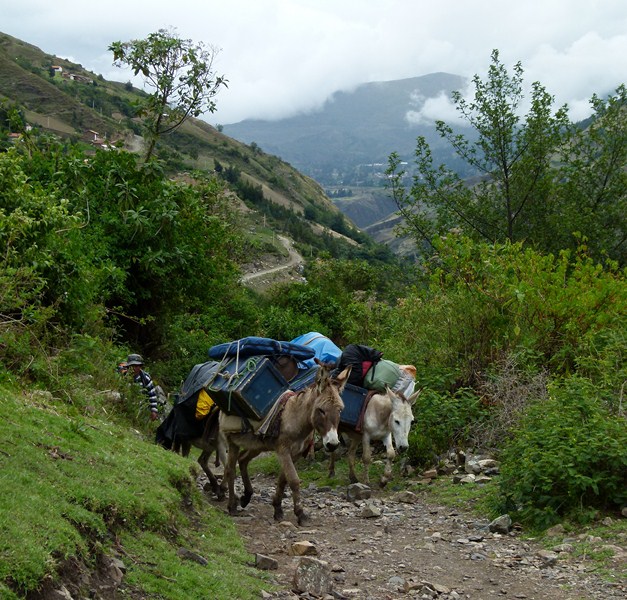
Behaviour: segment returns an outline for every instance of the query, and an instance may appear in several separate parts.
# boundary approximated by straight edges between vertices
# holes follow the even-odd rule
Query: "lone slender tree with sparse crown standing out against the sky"
[[[216,48],[205,47],[202,42],[194,44],[173,31],[160,29],[143,40],[113,42],[109,50],[114,65],[130,66],[154,89],[140,110],[146,117],[146,160],[161,135],[174,131],[189,117],[215,112],[213,98],[227,81],[213,69]]]

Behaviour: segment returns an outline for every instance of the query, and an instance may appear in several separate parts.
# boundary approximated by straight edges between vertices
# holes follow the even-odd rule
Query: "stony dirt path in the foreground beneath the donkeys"
[[[315,558],[331,568],[329,600],[627,597],[627,588],[605,583],[590,561],[566,554],[547,561],[534,542],[491,533],[487,522],[419,497],[401,502],[398,492],[373,490],[369,500],[349,501],[345,487],[311,486],[303,490],[311,522],[300,528],[291,498],[284,500],[286,521],[273,521],[271,479],[257,475],[254,485],[251,504],[234,520],[251,553],[276,560],[270,573],[280,591],[268,598],[317,597],[292,591],[301,558],[290,549],[299,541],[313,544]],[[380,515],[365,516],[366,507]]]

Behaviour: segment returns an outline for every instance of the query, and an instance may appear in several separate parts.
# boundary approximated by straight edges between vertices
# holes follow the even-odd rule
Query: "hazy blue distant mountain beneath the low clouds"
[[[415,118],[428,99],[448,96],[465,82],[434,73],[366,83],[336,92],[316,112],[279,121],[245,120],[224,125],[223,131],[280,156],[324,186],[374,185],[389,155],[412,156],[419,135],[427,138],[436,160],[450,164],[453,154],[433,122]]]

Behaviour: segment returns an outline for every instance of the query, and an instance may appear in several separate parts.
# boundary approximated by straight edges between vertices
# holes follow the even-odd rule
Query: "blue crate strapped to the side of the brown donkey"
[[[217,363],[206,389],[225,413],[261,420],[288,389],[288,383],[269,359],[252,356]]]

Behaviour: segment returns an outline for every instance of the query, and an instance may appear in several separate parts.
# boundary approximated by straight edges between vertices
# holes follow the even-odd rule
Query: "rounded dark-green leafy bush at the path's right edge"
[[[517,518],[547,527],[627,502],[627,427],[595,386],[572,377],[531,406],[501,456],[501,490]]]

